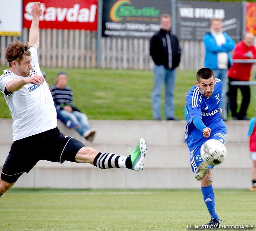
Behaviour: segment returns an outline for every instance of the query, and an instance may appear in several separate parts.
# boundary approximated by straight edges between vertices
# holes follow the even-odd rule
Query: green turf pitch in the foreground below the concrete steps
[[[255,225],[256,193],[216,189],[226,225]],[[210,220],[200,189],[10,189],[0,199],[2,231],[170,231]]]

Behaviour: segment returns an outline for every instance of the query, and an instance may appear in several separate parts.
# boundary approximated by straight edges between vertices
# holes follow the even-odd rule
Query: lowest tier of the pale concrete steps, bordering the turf
[[[42,177],[43,176],[43,177]],[[230,179],[234,179],[232,181]],[[214,188],[249,188],[250,168],[213,170]],[[200,188],[188,167],[151,167],[142,172],[128,169],[102,170],[96,167],[34,167],[23,174],[14,187],[50,188]]]

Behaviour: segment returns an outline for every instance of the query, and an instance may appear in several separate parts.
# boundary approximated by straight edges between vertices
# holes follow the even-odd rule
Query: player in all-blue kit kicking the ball
[[[200,155],[201,145],[209,139],[216,139],[223,144],[227,137],[227,128],[221,117],[220,99],[222,82],[214,78],[210,68],[201,68],[196,73],[196,85],[191,87],[186,96],[186,143],[190,151],[190,163],[195,179],[201,181],[204,202],[211,215],[207,227],[219,227],[220,221],[215,209],[212,187],[212,168],[203,162]]]

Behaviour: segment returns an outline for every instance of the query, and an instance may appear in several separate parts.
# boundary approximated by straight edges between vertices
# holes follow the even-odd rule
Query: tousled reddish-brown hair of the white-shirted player
[[[22,43],[20,40],[17,41],[14,39],[11,43],[9,43],[5,53],[9,67],[12,67],[12,61],[17,60],[18,63],[21,63],[23,55],[31,55],[28,49],[29,46],[27,42]]]

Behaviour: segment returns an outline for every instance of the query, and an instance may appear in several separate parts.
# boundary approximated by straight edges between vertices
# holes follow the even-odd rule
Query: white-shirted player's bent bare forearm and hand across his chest
[[[27,83],[35,83],[39,86],[40,84],[43,84],[43,82],[44,78],[42,76],[35,75],[31,77],[11,80],[6,84],[5,88],[8,92],[14,92],[20,90]]]

